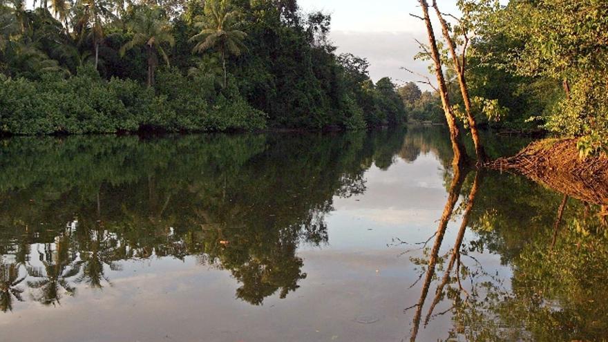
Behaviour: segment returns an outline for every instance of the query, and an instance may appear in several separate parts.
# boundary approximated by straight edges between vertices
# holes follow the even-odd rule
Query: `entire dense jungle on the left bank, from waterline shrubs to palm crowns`
[[[0,130],[365,129],[406,121],[390,79],[336,55],[295,0],[0,1]],[[158,72],[157,72],[158,70]]]

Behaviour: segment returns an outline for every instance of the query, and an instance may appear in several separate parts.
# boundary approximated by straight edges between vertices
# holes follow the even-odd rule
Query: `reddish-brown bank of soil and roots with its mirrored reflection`
[[[608,157],[581,160],[576,139],[539,140],[517,155],[497,159],[487,167],[522,173],[573,198],[608,205]]]

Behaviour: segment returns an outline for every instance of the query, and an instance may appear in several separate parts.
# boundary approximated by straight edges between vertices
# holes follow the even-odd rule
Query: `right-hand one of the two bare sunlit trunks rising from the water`
[[[458,84],[460,86],[460,93],[462,94],[462,101],[464,102],[466,119],[468,120],[468,125],[471,127],[471,136],[473,137],[473,143],[475,144],[475,154],[477,155],[478,162],[484,163],[487,160],[486,151],[484,150],[484,146],[482,145],[481,139],[479,138],[479,131],[477,130],[477,120],[475,120],[475,116],[473,116],[473,113],[471,111],[471,97],[469,97],[468,95],[468,86],[466,85],[466,77],[464,76],[464,70],[466,66],[466,44],[468,44],[468,40],[466,40],[466,43],[464,45],[461,63],[458,59],[458,54],[456,53],[454,40],[452,39],[452,37],[450,37],[448,23],[446,23],[443,15],[441,15],[436,0],[433,0],[433,8],[435,8],[435,12],[437,12],[439,23],[441,23],[441,31],[443,32],[444,37],[448,43],[448,49],[450,50],[450,55],[452,55],[452,59],[454,61],[454,69],[456,70]]]

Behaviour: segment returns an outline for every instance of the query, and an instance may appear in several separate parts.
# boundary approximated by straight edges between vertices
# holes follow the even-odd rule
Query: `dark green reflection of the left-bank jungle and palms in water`
[[[26,291],[57,305],[79,287],[111,286],[108,269],[124,260],[159,257],[228,270],[254,305],[285,298],[306,278],[298,246],[327,243],[333,196],[363,193],[365,170],[388,168],[404,135],[7,140],[2,309]],[[12,261],[30,246],[24,257],[39,266]]]

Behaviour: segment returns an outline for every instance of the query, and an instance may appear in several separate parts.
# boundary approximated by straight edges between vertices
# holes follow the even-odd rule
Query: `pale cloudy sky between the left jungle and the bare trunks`
[[[457,13],[456,0],[438,3],[441,12]],[[426,42],[424,23],[409,15],[421,15],[417,0],[298,0],[298,4],[304,12],[322,10],[332,15],[330,39],[338,53],[368,59],[374,82],[385,76],[396,83],[420,79],[401,67],[428,73],[428,62],[413,59],[418,53],[415,39]]]

